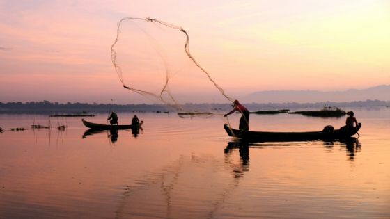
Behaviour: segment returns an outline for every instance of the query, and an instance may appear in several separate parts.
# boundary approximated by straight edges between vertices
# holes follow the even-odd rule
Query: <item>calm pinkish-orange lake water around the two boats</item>
[[[220,116],[138,113],[138,136],[116,136],[84,135],[79,117],[52,117],[65,131],[10,131],[49,120],[0,115],[0,218],[390,218],[390,108],[353,110],[363,124],[356,142],[249,147],[227,136]],[[106,116],[86,120],[105,124]],[[229,116],[233,127],[239,116]],[[250,129],[344,122],[252,114]]]

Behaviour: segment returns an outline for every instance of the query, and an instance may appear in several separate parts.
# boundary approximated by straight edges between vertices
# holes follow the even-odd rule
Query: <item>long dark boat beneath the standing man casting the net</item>
[[[270,131],[246,131],[242,132],[237,129],[232,129],[224,124],[224,128],[228,136],[248,140],[249,142],[265,142],[265,141],[302,141],[302,140],[333,140],[350,138],[359,131],[361,123],[358,124],[356,130],[349,130],[345,127],[341,129],[329,131],[307,131],[307,132],[270,132]]]

